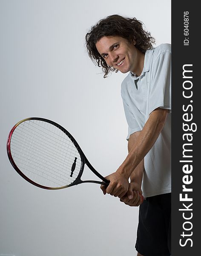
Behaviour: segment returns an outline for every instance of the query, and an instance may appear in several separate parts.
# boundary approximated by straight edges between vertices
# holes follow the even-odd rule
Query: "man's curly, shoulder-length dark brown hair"
[[[127,39],[130,43],[132,40],[135,40],[135,47],[143,53],[155,43],[155,39],[145,30],[144,24],[135,17],[129,18],[120,15],[110,15],[100,20],[95,26],[91,27],[85,39],[89,57],[95,64],[98,64],[98,67],[102,67],[104,78],[107,77],[110,71],[118,72],[118,70],[108,66],[96,49],[95,44],[103,36],[120,36]]]

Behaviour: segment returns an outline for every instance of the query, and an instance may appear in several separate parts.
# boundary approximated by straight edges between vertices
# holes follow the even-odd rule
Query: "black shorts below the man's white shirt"
[[[148,197],[140,205],[135,248],[144,256],[171,255],[171,193]]]

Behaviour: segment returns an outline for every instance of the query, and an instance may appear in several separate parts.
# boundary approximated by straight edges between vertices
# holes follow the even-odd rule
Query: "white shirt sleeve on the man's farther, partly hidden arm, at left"
[[[126,116],[126,121],[128,123],[128,136],[126,137],[126,140],[129,140],[129,137],[131,134],[135,133],[136,131],[141,131],[141,128],[138,125],[138,122],[135,119],[135,116],[133,115],[132,111],[129,108],[129,105],[127,105],[123,95],[122,100],[123,100],[123,108],[124,108],[124,113]]]

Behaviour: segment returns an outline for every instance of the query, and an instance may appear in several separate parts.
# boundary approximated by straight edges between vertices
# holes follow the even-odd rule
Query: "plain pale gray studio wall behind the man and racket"
[[[127,154],[120,95],[126,76],[103,79],[84,37],[100,18],[142,20],[156,46],[171,43],[170,1],[0,0],[0,254],[135,255],[138,208],[98,184],[48,191],[23,180],[6,154],[10,129],[31,116],[54,120],[103,176]],[[84,178],[95,178],[86,169]]]

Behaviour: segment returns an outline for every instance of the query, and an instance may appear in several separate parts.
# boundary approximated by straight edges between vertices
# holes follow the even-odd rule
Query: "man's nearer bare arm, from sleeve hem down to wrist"
[[[167,110],[157,108],[149,115],[144,128],[139,133],[135,143],[129,150],[129,154],[123,161],[122,165],[118,168],[117,172],[128,178],[136,169],[138,164],[143,160],[145,155],[152,148],[161,133],[165,120],[167,117]]]

